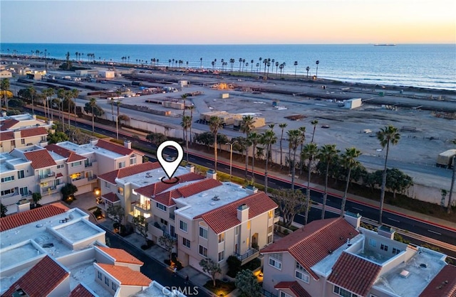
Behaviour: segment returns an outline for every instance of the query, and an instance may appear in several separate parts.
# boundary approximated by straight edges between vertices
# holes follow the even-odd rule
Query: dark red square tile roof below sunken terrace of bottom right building
[[[382,266],[343,252],[333,266],[328,282],[359,296],[367,296]]]

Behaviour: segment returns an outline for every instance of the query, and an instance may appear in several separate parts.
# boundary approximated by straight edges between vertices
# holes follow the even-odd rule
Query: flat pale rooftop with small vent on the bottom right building
[[[419,247],[418,252],[409,261],[380,276],[373,288],[402,297],[419,296],[446,265],[444,259],[444,254]],[[409,272],[406,278],[400,275],[402,271]]]

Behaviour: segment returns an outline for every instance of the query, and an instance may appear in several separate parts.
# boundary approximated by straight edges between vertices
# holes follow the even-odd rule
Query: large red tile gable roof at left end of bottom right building
[[[316,220],[261,249],[261,253],[289,252],[314,279],[318,279],[311,267],[356,235],[358,231],[342,217]]]

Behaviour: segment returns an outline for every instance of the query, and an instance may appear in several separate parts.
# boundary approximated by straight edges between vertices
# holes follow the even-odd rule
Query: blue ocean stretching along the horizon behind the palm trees
[[[80,60],[88,60],[93,54],[95,60],[115,61],[133,64],[151,63],[172,65],[169,60],[182,60],[181,67],[239,70],[239,58],[243,71],[264,71],[259,58],[274,59],[285,63],[283,73],[294,75],[316,75],[318,77],[344,82],[361,82],[377,85],[396,85],[456,90],[456,45],[454,44],[398,44],[395,46],[358,45],[115,45],[115,44],[39,44],[0,43],[4,54],[41,56],[46,50],[50,58],[65,59],[70,53],[76,60],[76,52],[82,53]],[[202,60],[200,60],[202,58]],[[234,58],[234,63],[229,60]],[[254,63],[252,64],[252,60]],[[295,61],[297,62],[295,68]],[[188,64],[187,64],[188,62]],[[269,72],[278,73],[276,63],[271,63]],[[248,65],[247,65],[248,63]],[[259,63],[259,67],[257,67]],[[174,63],[177,67],[177,63]]]

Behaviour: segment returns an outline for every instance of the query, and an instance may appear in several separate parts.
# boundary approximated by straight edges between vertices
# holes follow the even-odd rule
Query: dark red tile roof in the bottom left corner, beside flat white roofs
[[[69,276],[70,274],[66,269],[51,257],[46,256],[12,284],[2,296],[12,296],[17,288],[21,288],[27,296],[48,296],[56,286]]]

